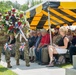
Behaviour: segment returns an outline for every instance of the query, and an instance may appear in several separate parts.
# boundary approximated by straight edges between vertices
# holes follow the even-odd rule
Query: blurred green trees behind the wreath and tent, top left
[[[31,7],[40,4],[42,2],[42,0],[32,0],[31,2]],[[0,2],[0,12],[4,13],[7,12],[8,10],[11,10],[12,7],[18,9],[18,10],[22,10],[22,11],[26,11],[27,9],[29,9],[28,7],[29,5],[29,1],[27,1],[27,3],[20,5],[17,1],[15,3],[12,3],[11,1],[1,1]]]

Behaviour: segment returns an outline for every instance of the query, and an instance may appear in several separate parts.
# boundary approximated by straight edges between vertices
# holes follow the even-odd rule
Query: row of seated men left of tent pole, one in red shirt
[[[34,31],[28,40],[30,61],[41,62],[41,51],[43,47],[47,47],[50,44],[50,34],[45,29]]]

